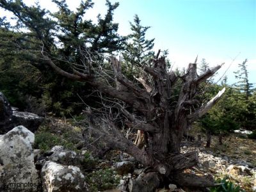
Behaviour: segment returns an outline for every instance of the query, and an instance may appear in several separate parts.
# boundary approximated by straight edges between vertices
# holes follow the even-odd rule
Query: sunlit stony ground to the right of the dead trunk
[[[200,129],[191,130],[190,134],[202,134]],[[203,140],[204,141],[204,140]],[[246,138],[244,134],[230,133],[223,137],[223,144],[218,144],[218,136],[212,136],[210,148],[205,142],[198,147],[200,164],[194,172],[211,173],[215,178],[227,176],[245,191],[256,191],[256,140]],[[195,147],[183,147],[191,150]]]

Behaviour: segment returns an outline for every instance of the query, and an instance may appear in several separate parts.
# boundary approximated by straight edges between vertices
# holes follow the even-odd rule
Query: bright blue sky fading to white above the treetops
[[[35,1],[24,0],[31,4]],[[50,0],[39,1],[54,11]],[[79,0],[67,0],[75,9]],[[87,17],[96,21],[106,13],[105,0],[93,1]],[[111,1],[116,2],[116,1]],[[249,80],[256,83],[256,0],[120,0],[114,20],[119,33],[130,33],[129,21],[138,14],[148,29],[147,38],[156,38],[155,49],[168,49],[173,67],[205,58],[213,67],[224,63],[219,76],[227,71],[228,83],[234,83],[237,64],[248,59]],[[234,61],[233,61],[234,60]],[[216,77],[218,80],[218,77]],[[255,84],[256,85],[256,84]]]

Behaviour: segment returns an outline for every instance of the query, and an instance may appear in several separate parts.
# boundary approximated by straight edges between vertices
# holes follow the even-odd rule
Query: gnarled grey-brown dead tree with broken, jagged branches
[[[180,142],[189,125],[207,113],[225,92],[225,88],[223,88],[207,104],[202,106],[198,104],[197,98],[200,83],[211,77],[221,65],[211,68],[198,76],[196,63],[189,63],[187,73],[183,76],[176,76],[174,72],[168,72],[166,61],[163,57],[159,58],[159,52],[152,60],[152,67],[143,67],[143,70],[152,77],[154,82],[153,84],[145,84],[145,82],[143,84],[141,82],[144,88],[132,83],[122,74],[120,61],[115,58],[111,58],[111,63],[115,74],[116,87],[93,76],[93,72],[76,69],[73,72],[64,71],[51,58],[45,56],[44,52],[43,55],[44,60],[61,76],[74,81],[86,81],[99,92],[121,100],[126,106],[136,109],[140,113],[140,118],[138,118],[125,107],[121,109],[129,125],[145,133],[147,145],[145,150],[141,150],[127,140],[118,129],[115,129],[114,124],[109,125],[113,127],[112,131],[115,136],[95,130],[98,134],[104,134],[102,138],[104,138],[105,142],[108,142],[111,148],[123,150],[135,157],[145,167],[150,167],[150,173],[146,173],[145,177],[137,180],[130,179],[127,182],[129,191],[140,188],[146,189],[144,185],[147,185],[149,181],[150,189],[148,190],[152,190],[157,188],[166,178],[184,186],[212,186],[212,180],[196,175],[187,175],[182,172],[198,163],[198,154],[197,152],[181,154]],[[177,102],[173,102],[173,88],[178,79],[182,79],[182,89]]]

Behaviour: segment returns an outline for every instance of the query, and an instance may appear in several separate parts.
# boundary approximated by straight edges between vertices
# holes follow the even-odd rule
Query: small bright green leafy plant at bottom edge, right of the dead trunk
[[[216,182],[220,185],[211,188],[211,192],[244,192],[243,189],[241,189],[239,186],[235,186],[233,182],[228,180],[228,177],[217,179]]]

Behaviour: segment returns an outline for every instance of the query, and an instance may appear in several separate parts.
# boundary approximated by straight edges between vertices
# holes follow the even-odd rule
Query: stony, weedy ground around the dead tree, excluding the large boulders
[[[84,122],[82,122],[83,124]],[[58,135],[63,138],[60,143],[50,143],[50,145],[64,145],[73,150],[75,146],[79,146],[79,135],[81,135],[81,121],[78,120],[56,120],[51,119],[48,124],[40,127],[37,136],[43,132],[51,132],[52,135]],[[70,134],[72,132],[72,134]],[[192,141],[185,142],[187,146],[182,147],[182,152],[190,150],[198,150],[200,163],[186,172],[193,172],[197,175],[213,175],[214,179],[227,177],[237,186],[241,186],[245,191],[256,190],[256,141],[249,140],[243,135],[229,134],[223,136],[223,144],[218,145],[217,136],[212,136],[212,145],[210,148],[205,148],[205,135],[199,129],[194,129],[189,132],[190,135],[202,134],[202,145],[195,146]],[[71,143],[68,143],[71,142]],[[72,145],[76,143],[76,145]],[[93,143],[94,141],[92,141]],[[47,144],[49,145],[49,144]],[[38,146],[37,146],[38,147]],[[49,146],[52,147],[52,146]],[[49,149],[49,148],[45,148]],[[127,177],[137,177],[143,171],[143,167],[134,163],[132,157],[127,154],[122,154],[118,151],[109,152],[103,159],[93,157],[86,148],[81,148],[79,152],[86,156],[86,166],[91,166],[86,170],[85,175],[88,175],[88,184],[95,191],[104,191],[113,189],[118,184],[125,182]],[[121,164],[122,166],[118,165]],[[132,163],[131,163],[132,162]],[[120,168],[119,168],[120,167]],[[132,173],[133,172],[133,173]],[[167,187],[168,188],[168,187]],[[159,191],[170,191],[170,189],[159,189]],[[93,189],[93,190],[94,190]],[[176,190],[176,189],[175,189]],[[191,191],[191,189],[179,189]],[[117,189],[115,191],[118,191]],[[120,190],[119,190],[120,191]],[[193,191],[193,190],[192,190]]]

